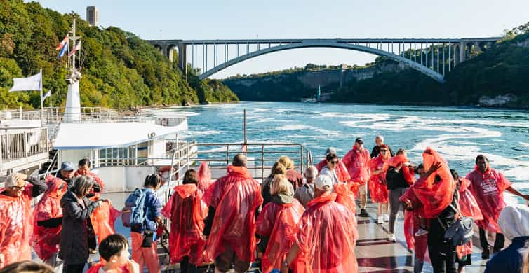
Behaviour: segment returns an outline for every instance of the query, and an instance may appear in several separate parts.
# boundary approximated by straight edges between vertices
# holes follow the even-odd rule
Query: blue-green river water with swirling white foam
[[[483,153],[516,188],[529,191],[529,112],[462,107],[241,102],[164,109],[189,116],[187,139],[199,142],[243,141],[243,109],[248,141],[295,142],[323,158],[327,147],[343,156],[356,137],[373,148],[375,135],[396,151],[405,148],[420,162],[424,148],[435,148],[451,168],[465,175]]]

